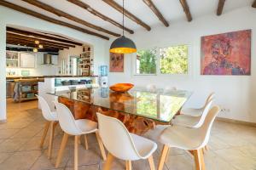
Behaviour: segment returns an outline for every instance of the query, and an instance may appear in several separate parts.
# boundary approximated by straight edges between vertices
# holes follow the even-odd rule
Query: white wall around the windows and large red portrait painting
[[[193,14],[192,14],[193,15]],[[240,8],[228,14],[216,14],[194,19],[192,22],[180,22],[170,27],[153,27],[152,31],[137,31],[132,40],[137,48],[167,47],[177,44],[189,44],[189,75],[134,76],[135,54],[125,55],[125,72],[110,73],[109,82],[132,82],[137,86],[154,83],[158,88],[166,85],[193,91],[187,106],[201,106],[207,94],[217,94],[216,104],[230,111],[219,116],[247,122],[256,122],[256,10]],[[252,75],[251,76],[201,76],[201,37],[206,35],[252,29]],[[110,43],[110,42],[109,42]],[[109,45],[108,45],[109,47]],[[133,59],[132,59],[133,58]]]

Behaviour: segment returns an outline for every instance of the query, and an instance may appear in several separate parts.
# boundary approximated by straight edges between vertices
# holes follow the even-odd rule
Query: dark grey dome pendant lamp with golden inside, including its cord
[[[123,0],[123,36],[114,40],[110,46],[109,52],[116,54],[131,54],[137,52],[137,48],[131,39],[125,37],[125,6]]]

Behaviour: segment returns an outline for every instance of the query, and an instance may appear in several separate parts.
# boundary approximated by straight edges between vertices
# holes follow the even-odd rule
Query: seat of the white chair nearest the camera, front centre
[[[131,139],[133,140],[138,154],[142,159],[147,159],[157,149],[157,144],[149,139],[145,139],[137,134],[130,133]]]

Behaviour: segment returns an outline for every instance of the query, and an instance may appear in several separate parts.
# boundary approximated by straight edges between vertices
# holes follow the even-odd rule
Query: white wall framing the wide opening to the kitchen
[[[53,33],[59,33],[65,37],[71,37],[73,39],[93,44],[94,46],[94,56],[96,61],[102,61],[103,56],[106,54],[106,43],[108,41],[103,40],[98,37],[90,36],[80,31],[75,31],[73,29],[58,26],[49,23],[44,20],[38,20],[27,14],[22,14],[15,10],[5,8],[0,6],[0,121],[6,118],[6,82],[5,82],[5,48],[6,48],[6,26],[23,26],[40,31],[49,31]],[[97,71],[97,69],[96,69]]]

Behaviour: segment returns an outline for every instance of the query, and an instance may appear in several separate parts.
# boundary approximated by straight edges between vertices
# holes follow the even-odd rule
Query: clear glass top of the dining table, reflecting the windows
[[[59,91],[48,94],[160,122],[170,122],[192,93],[183,90],[148,92],[143,89],[131,89],[127,93],[119,93],[108,88],[80,88],[73,89],[72,92]]]

